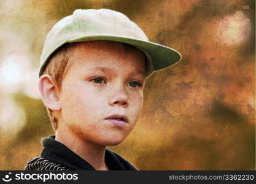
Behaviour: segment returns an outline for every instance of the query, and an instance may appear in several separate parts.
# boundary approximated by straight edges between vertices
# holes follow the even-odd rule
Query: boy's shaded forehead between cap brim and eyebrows
[[[80,42],[74,46],[71,62],[68,63],[68,71],[79,69],[120,69],[122,72],[145,73],[145,56],[136,47],[120,42],[92,41]]]

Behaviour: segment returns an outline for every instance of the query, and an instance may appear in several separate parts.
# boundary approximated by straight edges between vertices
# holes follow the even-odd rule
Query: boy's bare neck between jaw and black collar
[[[79,136],[74,136],[74,134],[66,129],[56,131],[55,140],[66,145],[66,147],[85,159],[96,170],[108,170],[105,163],[105,145],[87,142]]]

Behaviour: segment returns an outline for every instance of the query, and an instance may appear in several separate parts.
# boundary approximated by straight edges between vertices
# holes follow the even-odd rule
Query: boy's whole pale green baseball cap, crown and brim
[[[44,72],[50,56],[62,45],[92,40],[123,42],[139,48],[147,57],[147,77],[153,71],[164,69],[181,59],[180,53],[173,48],[150,42],[142,29],[123,13],[109,9],[78,9],[58,21],[48,33],[39,76]]]

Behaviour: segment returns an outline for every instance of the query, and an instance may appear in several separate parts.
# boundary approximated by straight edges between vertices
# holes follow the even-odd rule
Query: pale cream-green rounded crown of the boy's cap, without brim
[[[41,55],[41,67],[58,47],[84,36],[120,36],[148,40],[139,26],[122,13],[109,9],[78,9],[58,21],[48,33]]]

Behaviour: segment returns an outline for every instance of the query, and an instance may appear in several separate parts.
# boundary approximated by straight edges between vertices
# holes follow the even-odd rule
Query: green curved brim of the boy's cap
[[[85,41],[92,41],[92,40],[109,40],[115,42],[123,42],[125,44],[133,45],[141,49],[143,52],[147,53],[150,56],[153,64],[153,71],[158,71],[164,69],[168,66],[173,65],[180,61],[182,56],[179,52],[174,50],[173,48],[166,47],[164,45],[155,44],[150,41],[139,40],[139,39],[132,39],[130,37],[119,37],[119,36],[106,36],[106,35],[94,35],[94,36],[84,36],[84,37],[74,37],[72,39],[65,40],[63,43],[59,44],[58,47],[55,48],[55,51],[60,48],[62,45],[69,43],[69,42],[85,42]],[[54,53],[54,52],[52,52]],[[52,54],[51,54],[52,55]],[[47,64],[47,60],[50,56],[44,61],[43,66],[41,67],[41,71],[39,72],[41,75],[44,71],[44,67]]]

